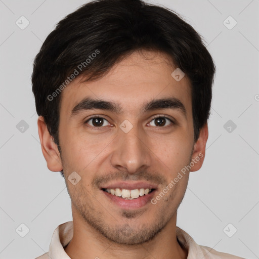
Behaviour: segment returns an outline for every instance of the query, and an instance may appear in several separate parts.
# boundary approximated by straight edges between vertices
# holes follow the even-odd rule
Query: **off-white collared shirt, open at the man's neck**
[[[188,250],[187,259],[244,259],[229,253],[218,252],[207,246],[198,245],[189,234],[179,227],[176,227],[176,233],[178,241]],[[72,237],[72,221],[59,225],[53,233],[49,252],[42,254],[36,259],[71,259],[65,252],[64,247],[70,242]]]

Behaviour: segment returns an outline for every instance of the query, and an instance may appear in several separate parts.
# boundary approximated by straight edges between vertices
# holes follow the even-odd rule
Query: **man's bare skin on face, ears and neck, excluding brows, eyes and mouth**
[[[104,184],[144,181],[157,184],[158,194],[198,154],[203,157],[190,171],[202,166],[208,128],[204,125],[194,142],[189,79],[184,76],[176,81],[171,76],[176,67],[165,54],[148,51],[142,54],[134,52],[98,81],[82,82],[79,75],[62,91],[59,124],[62,156],[44,118],[38,118],[48,168],[63,169],[71,197],[74,234],[65,251],[72,259],[187,258],[188,251],[176,237],[176,220],[189,171],[155,205],[149,202],[138,209],[119,208],[93,184],[100,179]],[[122,113],[95,109],[70,118],[71,110],[84,97],[120,103]],[[184,104],[186,117],[179,109],[140,113],[144,102],[168,97],[178,98]],[[84,123],[93,115],[107,120],[101,128],[94,128],[93,120]],[[157,126],[154,115],[173,118],[177,123],[166,120],[166,125]],[[125,119],[133,125],[126,134],[119,128]],[[67,179],[73,171],[81,177],[76,185]]]

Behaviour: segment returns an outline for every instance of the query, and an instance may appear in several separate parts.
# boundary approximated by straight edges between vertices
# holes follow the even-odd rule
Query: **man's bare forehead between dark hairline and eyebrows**
[[[85,97],[119,103],[123,110],[134,112],[143,102],[174,97],[191,109],[191,87],[184,76],[180,81],[171,73],[177,67],[159,52],[134,52],[115,64],[109,72],[94,82],[83,82],[78,75],[62,91],[61,112],[71,113]]]

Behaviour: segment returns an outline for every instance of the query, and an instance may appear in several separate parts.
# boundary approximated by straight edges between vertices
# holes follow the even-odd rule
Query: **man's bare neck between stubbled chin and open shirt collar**
[[[73,215],[73,238],[64,249],[71,259],[186,259],[188,251],[181,247],[176,236],[176,218],[177,213],[154,239],[143,244],[125,245],[108,240]]]

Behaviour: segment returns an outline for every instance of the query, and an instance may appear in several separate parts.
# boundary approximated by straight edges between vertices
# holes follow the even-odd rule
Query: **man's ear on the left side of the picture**
[[[58,172],[62,170],[62,163],[57,144],[50,135],[44,117],[38,117],[38,135],[41,144],[41,150],[47,161],[47,166],[51,171]]]

